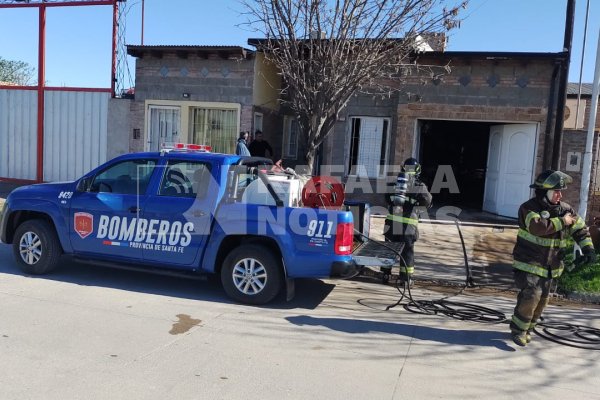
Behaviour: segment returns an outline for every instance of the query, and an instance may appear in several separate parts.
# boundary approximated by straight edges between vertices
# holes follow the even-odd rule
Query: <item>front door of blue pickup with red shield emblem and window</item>
[[[116,162],[84,178],[73,193],[69,237],[80,255],[142,261],[140,210],[156,166],[155,159]]]

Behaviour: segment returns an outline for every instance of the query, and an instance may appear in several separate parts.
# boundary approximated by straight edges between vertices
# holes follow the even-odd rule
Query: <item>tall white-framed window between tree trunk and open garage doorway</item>
[[[387,172],[389,119],[350,118],[349,175],[379,178]]]

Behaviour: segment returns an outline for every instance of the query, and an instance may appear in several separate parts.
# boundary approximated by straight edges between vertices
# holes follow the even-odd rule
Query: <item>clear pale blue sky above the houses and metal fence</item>
[[[6,0],[0,0],[0,4]],[[588,0],[577,0],[569,81],[579,82]],[[127,10],[126,43],[141,44],[142,0]],[[470,0],[449,51],[559,52],[567,0]],[[234,45],[260,34],[243,27],[239,0],[145,0],[145,45]],[[51,7],[46,13],[46,84],[110,87],[112,7]],[[590,0],[583,82],[592,82],[600,31],[600,1]],[[37,8],[0,9],[0,57],[37,68]],[[133,84],[135,59],[128,57]]]

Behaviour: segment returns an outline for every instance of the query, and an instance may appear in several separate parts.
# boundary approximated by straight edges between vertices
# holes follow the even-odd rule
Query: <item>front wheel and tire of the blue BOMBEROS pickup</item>
[[[62,248],[54,227],[42,219],[33,219],[15,231],[13,254],[23,272],[42,275],[56,268]]]

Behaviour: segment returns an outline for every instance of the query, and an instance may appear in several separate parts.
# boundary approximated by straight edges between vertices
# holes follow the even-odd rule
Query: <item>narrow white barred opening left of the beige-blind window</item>
[[[148,109],[148,151],[159,151],[162,144],[179,141],[179,107],[150,106]]]

